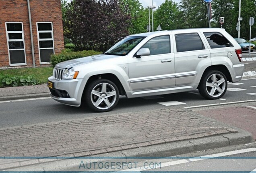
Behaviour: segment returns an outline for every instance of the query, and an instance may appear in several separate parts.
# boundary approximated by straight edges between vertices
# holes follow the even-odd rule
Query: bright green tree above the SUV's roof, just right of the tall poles
[[[162,30],[178,29],[180,26],[180,14],[178,3],[172,0],[165,0],[154,13],[155,29],[159,24]]]

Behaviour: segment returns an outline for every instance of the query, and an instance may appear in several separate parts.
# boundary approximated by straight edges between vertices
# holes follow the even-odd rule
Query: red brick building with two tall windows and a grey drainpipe
[[[0,0],[0,40],[0,68],[50,64],[64,49],[60,0]]]

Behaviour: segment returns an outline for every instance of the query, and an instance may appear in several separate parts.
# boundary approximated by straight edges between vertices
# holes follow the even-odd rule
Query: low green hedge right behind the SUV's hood
[[[55,66],[59,62],[63,62],[66,60],[72,60],[76,58],[82,58],[85,56],[92,56],[96,54],[101,54],[101,52],[96,52],[94,50],[84,50],[79,52],[72,52],[70,49],[63,50],[60,54],[52,54],[51,55],[51,64]]]

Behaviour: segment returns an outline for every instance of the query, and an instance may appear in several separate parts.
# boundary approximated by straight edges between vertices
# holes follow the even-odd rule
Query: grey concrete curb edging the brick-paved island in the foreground
[[[219,135],[213,137],[204,137],[199,139],[192,139],[187,141],[165,143],[160,145],[151,145],[147,147],[139,147],[135,149],[128,149],[123,151],[116,151],[111,153],[103,153],[91,155],[89,157],[76,157],[76,159],[68,159],[67,157],[74,158],[74,155],[69,155],[66,158],[51,158],[45,159],[32,159],[21,161],[19,163],[6,163],[4,167],[0,167],[1,171],[67,171],[78,169],[82,160],[90,159],[90,162],[107,162],[114,159],[124,159],[131,161],[136,159],[151,159],[160,157],[171,157],[175,155],[182,155],[192,153],[195,151],[203,151],[206,149],[215,149],[221,147],[229,147],[233,145],[253,143],[252,134],[242,129],[238,129],[238,133],[231,133],[227,135]],[[110,159],[111,158],[111,159]],[[77,161],[78,159],[78,161]],[[9,167],[8,167],[9,165]],[[84,170],[85,171],[85,170]]]

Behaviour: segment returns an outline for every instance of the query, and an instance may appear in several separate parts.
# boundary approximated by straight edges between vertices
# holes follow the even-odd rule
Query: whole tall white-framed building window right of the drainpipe
[[[52,22],[37,22],[37,38],[40,64],[49,64],[50,54],[54,54]]]

